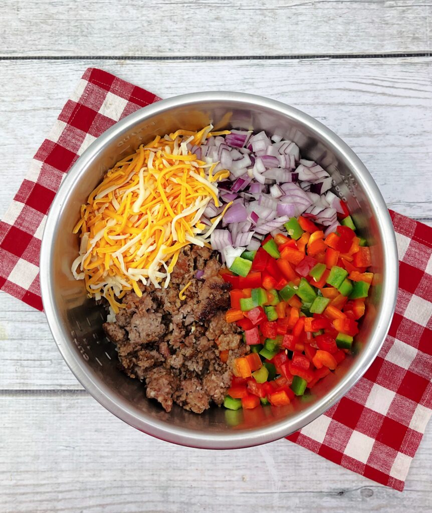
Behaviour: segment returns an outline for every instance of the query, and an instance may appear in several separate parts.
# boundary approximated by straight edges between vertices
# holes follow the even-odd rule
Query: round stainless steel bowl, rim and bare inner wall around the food
[[[104,172],[156,134],[182,127],[266,130],[296,142],[302,155],[323,166],[348,202],[366,237],[378,283],[355,346],[335,373],[303,400],[283,408],[226,412],[210,408],[198,416],[174,406],[170,413],[145,398],[143,385],[117,369],[114,346],[102,331],[104,312],[73,279],[78,249],[72,228],[78,211]],[[41,288],[54,340],[76,378],[117,417],[154,437],[192,447],[229,449],[285,437],[316,419],[364,374],[384,341],[396,302],[398,258],[395,234],[377,185],[357,155],[337,135],[293,107],[261,96],[204,92],[176,96],[145,107],[101,135],[67,174],[48,215],[41,250]],[[259,410],[259,411],[258,411]]]

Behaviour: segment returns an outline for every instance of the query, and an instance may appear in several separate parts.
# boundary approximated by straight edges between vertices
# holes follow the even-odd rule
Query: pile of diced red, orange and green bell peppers
[[[374,274],[347,210],[341,223],[325,237],[309,219],[291,218],[287,236],[268,235],[221,271],[232,287],[226,321],[250,346],[233,361],[226,408],[287,405],[351,352]]]

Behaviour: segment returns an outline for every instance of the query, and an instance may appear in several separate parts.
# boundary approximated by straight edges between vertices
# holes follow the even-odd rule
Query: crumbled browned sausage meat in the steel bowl
[[[218,253],[186,246],[167,289],[142,287],[143,296],[127,292],[126,308],[104,324],[117,346],[121,368],[146,384],[146,394],[166,411],[172,403],[202,413],[213,401],[221,405],[231,381],[231,362],[248,346],[235,323],[225,321],[230,285],[219,275]],[[197,270],[204,271],[200,280]],[[185,291],[186,299],[179,299]],[[228,362],[219,351],[229,350]]]

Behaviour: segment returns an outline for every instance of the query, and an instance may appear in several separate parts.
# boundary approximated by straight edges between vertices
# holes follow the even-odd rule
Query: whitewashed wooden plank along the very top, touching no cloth
[[[6,0],[2,55],[313,55],[430,50],[430,2]]]

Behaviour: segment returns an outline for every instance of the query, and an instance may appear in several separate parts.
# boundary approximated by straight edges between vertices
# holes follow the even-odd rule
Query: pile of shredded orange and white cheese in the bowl
[[[117,162],[81,207],[73,232],[80,232],[78,257],[72,264],[77,280],[85,280],[89,297],[106,298],[114,313],[128,290],[141,297],[138,285],[169,285],[181,249],[188,244],[209,246],[210,234],[226,208],[210,221],[201,221],[210,201],[219,207],[217,182],[228,170],[213,175],[218,163],[207,164],[190,152],[211,135],[177,130],[156,136],[146,146]],[[181,290],[180,299],[190,282]]]

